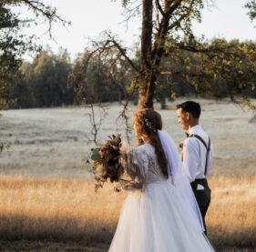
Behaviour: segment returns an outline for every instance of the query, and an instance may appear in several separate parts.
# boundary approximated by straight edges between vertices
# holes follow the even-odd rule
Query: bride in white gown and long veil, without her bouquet
[[[133,123],[140,145],[127,155],[131,180],[123,187],[129,194],[109,251],[214,251],[203,234],[200,210],[178,150],[161,130],[161,116],[142,109]]]

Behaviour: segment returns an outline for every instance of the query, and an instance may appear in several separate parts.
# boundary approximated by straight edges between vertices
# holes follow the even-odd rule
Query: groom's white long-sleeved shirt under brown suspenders
[[[203,131],[200,125],[189,128],[189,135],[199,135],[208,145],[209,136]],[[189,181],[192,182],[197,178],[205,178],[210,174],[212,166],[213,146],[210,144],[210,153],[208,156],[207,174],[204,175],[206,162],[206,147],[196,137],[188,137],[184,141],[183,146],[183,165],[189,176]]]

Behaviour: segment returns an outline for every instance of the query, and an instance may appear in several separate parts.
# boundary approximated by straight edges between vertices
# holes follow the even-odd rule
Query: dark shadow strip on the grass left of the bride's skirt
[[[74,217],[0,216],[0,240],[53,240],[109,243],[116,225],[99,219],[84,222]]]

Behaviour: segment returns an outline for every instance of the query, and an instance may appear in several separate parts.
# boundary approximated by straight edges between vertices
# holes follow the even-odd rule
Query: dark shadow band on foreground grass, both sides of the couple
[[[117,223],[91,219],[87,222],[74,217],[24,217],[1,216],[1,247],[7,251],[17,243],[19,250],[54,251],[108,251]],[[223,232],[210,227],[210,242],[216,251],[256,251],[256,228]],[[39,250],[41,249],[41,250]]]

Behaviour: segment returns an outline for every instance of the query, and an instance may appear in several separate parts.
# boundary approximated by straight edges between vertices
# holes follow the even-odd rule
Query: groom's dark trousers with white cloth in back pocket
[[[204,186],[203,190],[197,190],[198,185]],[[197,202],[200,207],[201,217],[203,220],[203,226],[205,229],[205,235],[207,235],[207,229],[205,226],[205,216],[210,206],[210,187],[208,186],[207,180],[205,178],[196,179],[191,183],[192,190],[197,199]]]

